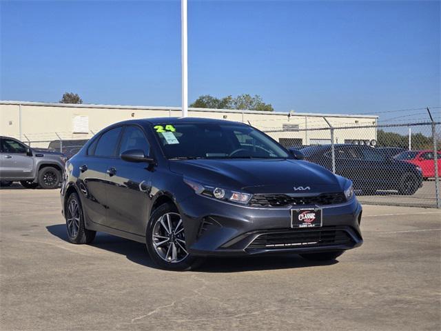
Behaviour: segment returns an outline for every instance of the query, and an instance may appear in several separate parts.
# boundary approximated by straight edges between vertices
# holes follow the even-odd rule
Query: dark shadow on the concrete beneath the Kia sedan
[[[68,241],[66,225],[57,224],[46,227],[50,234]],[[128,239],[112,236],[103,232],[96,233],[92,247],[101,248],[108,252],[122,254],[130,261],[145,265],[150,268],[158,268],[147,254],[147,248],[143,243],[137,243]],[[194,270],[195,272],[243,272],[258,270],[278,270],[290,268],[305,268],[318,265],[332,265],[338,261],[308,261],[297,254],[271,254],[260,257],[212,257]]]

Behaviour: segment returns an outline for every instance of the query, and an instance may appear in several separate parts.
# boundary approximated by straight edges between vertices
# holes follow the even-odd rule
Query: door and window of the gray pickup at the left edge
[[[15,139],[0,139],[0,178],[33,179],[34,159],[26,154],[26,146]]]

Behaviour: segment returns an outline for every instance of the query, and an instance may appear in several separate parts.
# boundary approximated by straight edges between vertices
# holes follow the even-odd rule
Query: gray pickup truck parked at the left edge
[[[25,188],[58,188],[65,160],[59,152],[30,148],[17,139],[0,137],[0,185],[19,181]]]

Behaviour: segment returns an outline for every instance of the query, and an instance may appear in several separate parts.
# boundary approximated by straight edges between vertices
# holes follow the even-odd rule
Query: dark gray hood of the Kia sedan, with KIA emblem
[[[203,184],[250,193],[340,192],[342,177],[294,159],[198,159],[170,161],[170,170]]]

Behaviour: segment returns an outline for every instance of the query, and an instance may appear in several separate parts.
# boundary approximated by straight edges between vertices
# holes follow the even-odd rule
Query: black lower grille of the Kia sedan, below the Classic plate
[[[247,250],[280,250],[332,245],[351,247],[354,244],[355,241],[345,230],[336,230],[335,228],[301,229],[260,234],[248,245]]]

